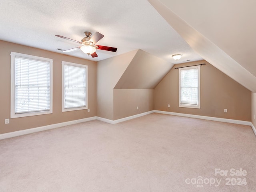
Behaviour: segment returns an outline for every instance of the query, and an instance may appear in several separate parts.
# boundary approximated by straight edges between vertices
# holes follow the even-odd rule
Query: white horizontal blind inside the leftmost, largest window
[[[50,62],[15,56],[15,114],[50,111]]]

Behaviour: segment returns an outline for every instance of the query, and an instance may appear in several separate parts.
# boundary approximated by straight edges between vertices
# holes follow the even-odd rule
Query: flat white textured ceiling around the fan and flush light
[[[84,31],[105,37],[97,44],[117,47],[116,53],[97,50],[92,58],[81,50],[65,53],[99,61],[142,49],[168,62],[179,64],[202,58],[160,16],[147,0],[4,0],[0,6],[0,40],[63,53],[79,44]],[[175,61],[172,54],[183,54]]]

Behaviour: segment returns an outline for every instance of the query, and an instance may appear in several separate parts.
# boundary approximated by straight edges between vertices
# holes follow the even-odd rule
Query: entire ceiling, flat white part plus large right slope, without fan
[[[105,35],[92,58],[81,50],[65,54],[100,61],[141,49],[179,64],[205,59],[256,92],[255,0],[9,0],[0,6],[0,40],[53,52],[79,46],[84,31]],[[183,54],[176,62],[172,54]]]

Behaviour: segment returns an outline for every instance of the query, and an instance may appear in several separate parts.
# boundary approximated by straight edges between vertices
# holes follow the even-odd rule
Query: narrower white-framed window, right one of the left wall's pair
[[[87,108],[87,66],[63,61],[62,112]]]

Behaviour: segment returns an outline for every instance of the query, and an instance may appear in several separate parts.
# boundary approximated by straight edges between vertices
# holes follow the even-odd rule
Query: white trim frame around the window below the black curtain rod
[[[194,68],[198,68],[198,105],[190,105],[190,104],[181,104],[180,103],[180,72],[182,70],[188,70],[188,69],[194,69]],[[195,109],[200,109],[201,108],[201,80],[200,80],[200,76],[201,76],[201,66],[190,66],[190,67],[186,67],[186,69],[183,68],[179,68],[179,107],[184,107],[184,108],[195,108]]]

